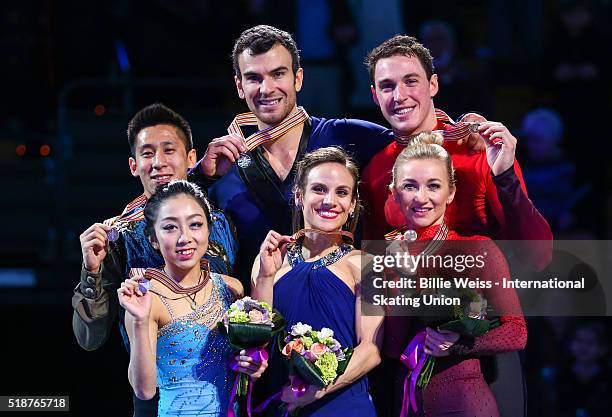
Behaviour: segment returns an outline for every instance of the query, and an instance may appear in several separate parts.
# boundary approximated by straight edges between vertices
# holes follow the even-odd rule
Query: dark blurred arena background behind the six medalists
[[[361,65],[384,39],[407,33],[436,58],[447,51],[448,64],[435,62],[436,106],[451,117],[478,111],[511,129],[530,197],[556,238],[609,239],[611,2],[424,3],[3,3],[0,394],[70,395],[72,415],[130,415],[128,358],[118,332],[96,352],[81,350],[72,335],[78,235],[141,192],[129,175],[125,134],[139,108],[162,101],[186,116],[199,156],[234,114],[246,110],[235,93],[229,54],[234,39],[254,24],[296,35],[305,68],[298,102],[326,117],[385,124],[368,98]],[[523,118],[538,108],[547,110],[537,114],[534,128]],[[8,283],[15,269],[32,283]],[[558,405],[563,381],[556,375],[572,363],[574,322],[530,321],[535,337],[523,357],[532,415],[599,415],[592,407]]]

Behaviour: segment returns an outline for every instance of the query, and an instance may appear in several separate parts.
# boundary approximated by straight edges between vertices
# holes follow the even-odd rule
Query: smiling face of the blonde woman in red
[[[453,201],[455,187],[448,172],[437,159],[412,159],[396,171],[393,198],[400,206],[411,229],[441,224],[446,206]]]

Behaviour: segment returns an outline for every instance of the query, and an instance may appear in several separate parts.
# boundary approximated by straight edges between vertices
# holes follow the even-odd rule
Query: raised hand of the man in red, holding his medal
[[[516,138],[499,122],[484,122],[478,131],[487,145],[487,162],[493,175],[507,171],[514,164]]]

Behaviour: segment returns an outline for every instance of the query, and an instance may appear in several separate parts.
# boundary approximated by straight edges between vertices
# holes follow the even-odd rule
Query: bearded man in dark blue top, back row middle
[[[223,176],[208,192],[236,224],[238,276],[248,293],[251,265],[268,231],[291,233],[288,202],[295,162],[306,152],[338,145],[365,166],[393,140],[393,132],[361,120],[305,114],[296,104],[303,79],[300,57],[285,31],[265,25],[250,28],[236,40],[232,56],[238,96],[253,113],[256,129],[279,131],[263,135],[264,143],[255,148],[247,148],[239,134],[216,138],[199,164],[206,177]]]

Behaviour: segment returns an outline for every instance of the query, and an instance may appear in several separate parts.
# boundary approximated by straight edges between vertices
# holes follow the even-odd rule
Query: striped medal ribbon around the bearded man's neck
[[[258,132],[253,133],[251,136],[245,139],[240,126],[257,126],[257,117],[252,112],[241,113],[232,120],[232,123],[228,126],[227,132],[229,134],[235,134],[244,139],[246,147],[249,151],[252,151],[262,143],[276,140],[289,132],[290,130],[298,127],[308,119],[308,114],[303,107],[298,107],[297,112],[287,117],[285,120],[280,122],[276,126],[267,127]]]

